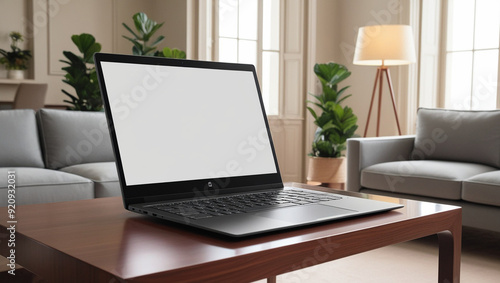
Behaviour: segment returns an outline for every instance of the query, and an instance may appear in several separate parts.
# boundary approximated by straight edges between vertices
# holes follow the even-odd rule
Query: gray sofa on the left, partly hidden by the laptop
[[[0,206],[7,205],[8,175],[17,205],[121,194],[101,112],[0,111]]]

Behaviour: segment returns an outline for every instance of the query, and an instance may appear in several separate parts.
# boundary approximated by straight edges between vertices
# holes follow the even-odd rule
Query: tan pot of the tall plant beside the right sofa
[[[320,183],[345,183],[346,158],[309,156],[307,181]]]

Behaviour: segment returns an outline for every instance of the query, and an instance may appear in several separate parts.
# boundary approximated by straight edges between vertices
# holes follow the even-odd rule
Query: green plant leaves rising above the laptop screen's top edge
[[[161,51],[156,50],[157,45],[165,39],[163,35],[158,36],[151,44],[149,41],[152,39],[153,34],[163,26],[164,23],[157,23],[148,18],[145,13],[136,13],[132,16],[136,31],[134,32],[127,24],[122,25],[132,34],[133,37],[123,36],[134,44],[132,46],[132,54],[158,56],[166,58],[179,58],[186,59],[186,53],[182,50],[168,47],[163,48]]]

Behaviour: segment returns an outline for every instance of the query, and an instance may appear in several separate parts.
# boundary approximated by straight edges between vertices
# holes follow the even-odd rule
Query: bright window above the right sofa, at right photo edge
[[[498,107],[500,1],[448,0],[444,107]]]

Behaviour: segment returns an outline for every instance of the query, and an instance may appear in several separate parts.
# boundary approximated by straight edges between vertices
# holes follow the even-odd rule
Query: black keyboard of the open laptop
[[[341,199],[341,197],[315,192],[286,190],[163,203],[152,207],[190,219],[203,219],[338,199]]]

